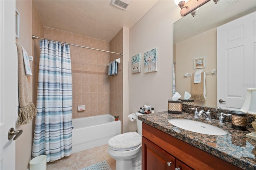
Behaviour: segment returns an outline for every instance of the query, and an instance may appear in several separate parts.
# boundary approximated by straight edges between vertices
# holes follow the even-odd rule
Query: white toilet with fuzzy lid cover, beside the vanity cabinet
[[[108,140],[108,154],[116,160],[116,170],[140,170],[142,146],[142,121],[137,119],[137,132],[126,132]]]

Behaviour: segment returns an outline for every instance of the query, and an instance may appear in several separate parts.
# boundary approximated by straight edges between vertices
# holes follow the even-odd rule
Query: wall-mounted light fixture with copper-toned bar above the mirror
[[[180,14],[182,16],[191,13],[193,17],[196,16],[196,9],[209,1],[210,0],[174,0],[175,4],[180,7]],[[215,4],[219,1],[220,0],[213,0]]]

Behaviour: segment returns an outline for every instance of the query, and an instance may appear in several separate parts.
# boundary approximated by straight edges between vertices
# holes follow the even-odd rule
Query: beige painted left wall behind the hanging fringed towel
[[[20,32],[19,42],[28,52],[32,55],[32,1],[30,0],[17,0],[16,10],[20,13]],[[30,64],[32,64],[30,62]],[[28,78],[29,88],[32,88],[32,77]],[[32,96],[31,96],[32,97]],[[32,100],[32,99],[31,99]],[[23,130],[22,135],[16,140],[16,169],[27,169],[30,161],[31,148],[32,148],[32,122],[16,126],[16,130]]]

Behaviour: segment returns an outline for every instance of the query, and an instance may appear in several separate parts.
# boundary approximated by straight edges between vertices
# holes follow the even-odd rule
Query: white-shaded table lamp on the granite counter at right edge
[[[248,88],[244,105],[240,109],[244,113],[252,114],[256,118],[256,88]],[[246,134],[247,138],[256,140],[256,121],[252,122],[254,132]]]

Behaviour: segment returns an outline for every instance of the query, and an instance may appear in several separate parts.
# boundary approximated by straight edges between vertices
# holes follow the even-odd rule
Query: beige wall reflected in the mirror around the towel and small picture
[[[191,93],[191,77],[185,78],[186,72],[196,70],[211,72],[217,68],[217,29],[214,28],[188,40],[176,44],[176,91],[184,96],[184,92]],[[193,59],[206,57],[206,68],[193,69]],[[217,107],[217,76],[206,75],[206,101],[197,101],[199,106]]]

